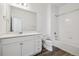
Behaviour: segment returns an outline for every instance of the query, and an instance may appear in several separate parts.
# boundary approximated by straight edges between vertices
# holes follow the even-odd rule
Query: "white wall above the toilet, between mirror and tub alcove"
[[[37,12],[37,30],[42,34],[49,34],[49,9],[46,3],[31,3],[30,9]]]

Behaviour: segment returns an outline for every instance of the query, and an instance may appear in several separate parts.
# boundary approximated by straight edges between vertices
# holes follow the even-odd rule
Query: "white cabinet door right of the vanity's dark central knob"
[[[35,49],[34,40],[28,38],[27,40],[23,42],[22,55],[23,56],[33,55],[34,49]]]

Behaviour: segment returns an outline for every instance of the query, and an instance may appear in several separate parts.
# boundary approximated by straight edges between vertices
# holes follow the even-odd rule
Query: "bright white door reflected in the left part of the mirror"
[[[16,16],[12,17],[12,32],[22,32],[22,18]]]

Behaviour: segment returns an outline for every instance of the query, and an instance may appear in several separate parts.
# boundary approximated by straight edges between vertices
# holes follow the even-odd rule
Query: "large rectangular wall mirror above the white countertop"
[[[29,32],[36,30],[36,17],[35,12],[23,10],[11,6],[11,17],[12,17],[12,32]]]

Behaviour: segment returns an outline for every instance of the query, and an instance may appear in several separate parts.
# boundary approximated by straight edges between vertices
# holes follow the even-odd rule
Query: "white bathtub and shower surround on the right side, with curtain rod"
[[[54,46],[79,55],[79,4],[53,4],[52,10],[52,36],[56,32],[53,36]]]

